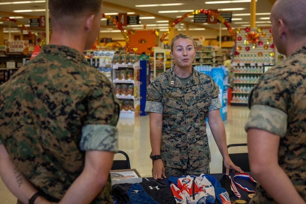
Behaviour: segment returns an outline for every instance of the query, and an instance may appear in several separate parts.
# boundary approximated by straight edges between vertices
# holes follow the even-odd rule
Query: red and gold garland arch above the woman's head
[[[194,14],[199,14],[199,13],[210,14],[211,16],[214,16],[215,18],[217,18],[221,23],[223,23],[226,26],[227,30],[230,32],[230,35],[232,36],[232,39],[235,40],[236,35],[234,34],[233,29],[230,27],[229,23],[225,20],[225,18],[223,18],[220,14],[214,11],[200,9],[200,10],[195,10],[190,13],[186,13],[182,17],[178,18],[177,20],[174,20],[174,22],[169,26],[167,31],[160,38],[160,42],[162,42],[165,39],[165,37],[170,33],[170,31],[174,28],[174,26],[178,24],[181,20],[187,18],[191,14],[194,15]]]

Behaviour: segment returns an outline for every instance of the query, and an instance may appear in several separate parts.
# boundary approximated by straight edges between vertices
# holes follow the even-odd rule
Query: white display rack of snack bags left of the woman
[[[120,101],[120,117],[140,115],[140,61],[135,64],[113,64],[113,83]]]

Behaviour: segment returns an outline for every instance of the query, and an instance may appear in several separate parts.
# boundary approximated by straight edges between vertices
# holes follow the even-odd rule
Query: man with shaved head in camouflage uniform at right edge
[[[274,44],[287,59],[266,72],[249,96],[245,130],[258,181],[250,203],[306,201],[305,10],[305,0],[277,0],[272,7]]]

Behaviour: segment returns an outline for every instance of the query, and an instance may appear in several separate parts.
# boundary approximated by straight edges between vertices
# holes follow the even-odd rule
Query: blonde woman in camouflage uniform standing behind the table
[[[172,39],[170,47],[175,64],[147,87],[145,111],[150,115],[153,178],[210,172],[207,116],[226,173],[230,168],[242,172],[228,155],[219,87],[211,76],[192,67],[194,40],[181,33]]]

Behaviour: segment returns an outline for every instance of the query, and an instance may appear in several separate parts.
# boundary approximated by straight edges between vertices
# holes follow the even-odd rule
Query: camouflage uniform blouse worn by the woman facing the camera
[[[208,111],[220,109],[219,87],[215,81],[192,67],[184,87],[174,66],[156,76],[147,87],[146,112],[163,114],[161,155],[165,166],[192,169],[209,164],[206,134]]]

